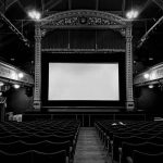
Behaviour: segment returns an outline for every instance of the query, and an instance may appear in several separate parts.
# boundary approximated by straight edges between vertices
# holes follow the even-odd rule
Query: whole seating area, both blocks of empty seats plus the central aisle
[[[0,159],[7,163],[159,162],[163,122],[99,120],[95,127],[80,127],[77,120],[2,122]]]

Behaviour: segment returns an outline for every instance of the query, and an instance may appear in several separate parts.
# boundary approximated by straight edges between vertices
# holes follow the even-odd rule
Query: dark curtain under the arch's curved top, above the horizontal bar
[[[53,29],[42,38],[42,49],[125,49],[125,38],[111,29]]]

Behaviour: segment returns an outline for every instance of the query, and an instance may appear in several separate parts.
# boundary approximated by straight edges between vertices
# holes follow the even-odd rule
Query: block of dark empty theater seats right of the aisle
[[[163,122],[98,121],[96,129],[112,162],[153,163],[163,160]]]

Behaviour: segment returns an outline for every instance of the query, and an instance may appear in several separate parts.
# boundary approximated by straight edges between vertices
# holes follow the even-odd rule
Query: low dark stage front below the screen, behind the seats
[[[105,112],[88,111],[85,110],[54,110],[49,109],[49,111],[28,111],[23,114],[23,121],[39,121],[39,120],[79,120],[83,127],[93,126],[95,121],[99,120],[110,120],[110,121],[149,121],[153,120],[153,116],[150,116],[143,111],[133,111],[128,112],[125,110],[108,110]]]

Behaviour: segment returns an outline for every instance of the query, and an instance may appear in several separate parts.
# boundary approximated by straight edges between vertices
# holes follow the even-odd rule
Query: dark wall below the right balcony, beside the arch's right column
[[[138,110],[149,113],[163,113],[163,91],[159,86],[148,88],[148,86],[136,88],[136,105]]]

